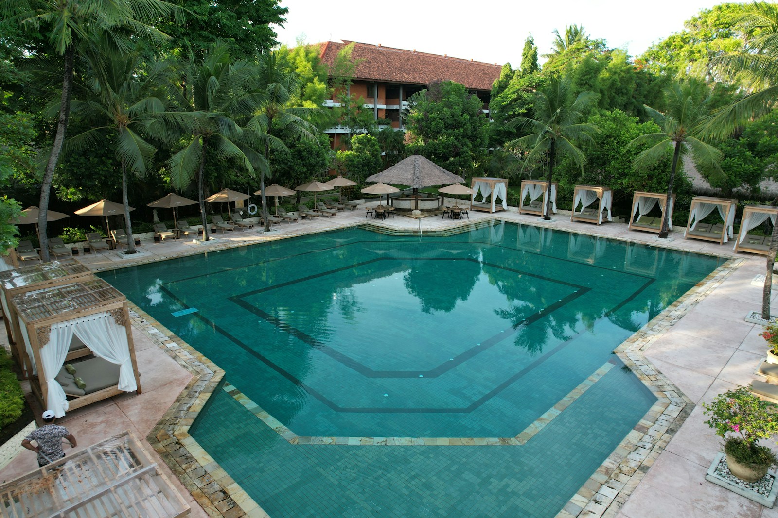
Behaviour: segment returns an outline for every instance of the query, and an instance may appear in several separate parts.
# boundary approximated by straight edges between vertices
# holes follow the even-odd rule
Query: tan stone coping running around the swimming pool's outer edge
[[[530,221],[516,221],[511,217],[505,217],[503,214],[492,214],[492,217],[482,221],[509,221],[512,223],[531,224],[538,228],[552,228],[560,231],[576,230],[557,225],[557,224],[534,224]],[[275,241],[276,239],[296,237],[321,231],[335,230],[338,228],[348,228],[360,226],[364,222],[346,222],[333,226],[331,228],[310,228],[300,233],[290,235],[272,235],[264,236],[259,242]],[[450,231],[455,228],[468,227],[471,224],[477,224],[477,221],[457,221],[452,224],[440,225],[435,230],[425,229],[427,234],[436,231]],[[370,225],[370,224],[368,224]],[[599,227],[594,227],[596,231]],[[414,231],[414,228],[408,228],[407,231]],[[402,231],[402,230],[401,230]],[[608,239],[616,239],[625,242],[640,243],[643,245],[653,245],[661,248],[674,249],[682,252],[695,252],[709,256],[718,256],[728,258],[724,264],[715,269],[706,276],[691,290],[687,291],[682,297],[678,298],[673,304],[653,318],[647,325],[644,325],[638,332],[634,333],[614,349],[619,358],[636,374],[643,384],[657,397],[657,402],[650,410],[643,415],[643,419],[636,424],[633,430],[619,443],[619,446],[608,456],[601,466],[594,471],[594,474],[581,486],[576,495],[567,502],[562,510],[556,515],[557,518],[571,518],[581,516],[586,518],[612,518],[619,513],[619,509],[624,505],[629,495],[640,483],[648,468],[659,457],[671,440],[673,434],[680,428],[686,417],[694,409],[692,401],[682,394],[667,377],[659,373],[650,361],[643,356],[643,351],[647,349],[659,336],[667,332],[672,325],[693,308],[699,301],[702,301],[710,294],[721,282],[739,266],[745,259],[734,256],[729,253],[702,252],[696,249],[673,246],[670,243],[657,242],[657,239],[632,239],[622,238],[621,236],[612,236],[598,234],[595,232],[577,232],[580,234],[591,235]],[[650,237],[650,236],[648,236]],[[209,247],[207,252],[220,249],[235,248],[243,245],[253,245],[257,242],[238,242],[224,243]],[[153,260],[143,260],[138,262],[114,263],[110,266],[96,268],[96,271],[108,269],[118,269],[127,266],[138,266],[146,262],[157,262],[164,259],[177,259],[183,256],[192,256],[206,252],[203,249],[187,249],[170,256],[157,257]],[[89,266],[89,265],[87,265]],[[192,380],[184,391],[181,392],[176,401],[171,405],[163,416],[163,419],[149,433],[147,440],[152,447],[168,464],[171,471],[180,479],[184,487],[191,492],[192,496],[209,516],[226,516],[226,518],[237,518],[239,516],[256,516],[258,518],[268,516],[267,513],[251,499],[240,485],[227,475],[226,471],[189,435],[189,429],[195,421],[198,413],[205,407],[210,395],[219,388],[223,382],[224,371],[219,369],[216,364],[208,358],[198,353],[196,349],[184,342],[177,335],[166,329],[165,326],[156,322],[154,318],[146,314],[135,304],[131,306],[131,317],[133,323],[149,335],[152,342],[156,343],[160,349],[163,349],[173,360],[176,360],[184,369],[193,374]],[[229,387],[228,387],[229,388]],[[576,388],[577,390],[577,388]],[[229,390],[228,390],[229,391]],[[240,395],[237,391],[230,392],[247,408],[261,412],[261,408],[253,402]],[[572,393],[571,393],[572,394]],[[247,402],[241,400],[243,396]],[[565,401],[564,399],[562,401]],[[561,403],[561,402],[560,402]],[[567,403],[569,404],[569,402]],[[559,405],[559,404],[558,404]],[[553,410],[553,408],[552,408]],[[552,412],[551,410],[549,412]],[[547,412],[548,413],[548,412]],[[534,433],[537,433],[545,425],[544,419],[548,416],[544,414],[532,426],[535,427]],[[271,418],[272,419],[272,418]],[[271,424],[268,422],[268,425]],[[279,423],[280,425],[280,423]],[[527,430],[525,430],[525,433]],[[375,439],[375,438],[373,438]],[[430,438],[432,439],[432,438]],[[518,436],[517,438],[518,439]],[[526,438],[524,438],[526,442]],[[432,445],[433,440],[430,440]],[[450,440],[448,445],[453,446]],[[383,443],[386,444],[386,443]],[[444,443],[437,443],[443,445]]]

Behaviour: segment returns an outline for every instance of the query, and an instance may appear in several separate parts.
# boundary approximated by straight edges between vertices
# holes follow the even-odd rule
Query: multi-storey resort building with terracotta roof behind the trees
[[[348,40],[318,43],[321,61],[331,65]],[[499,77],[501,65],[483,63],[472,59],[450,57],[446,54],[427,54],[413,50],[383,47],[380,43],[354,43],[351,57],[357,63],[356,75],[349,87],[349,95],[365,99],[365,106],[373,109],[375,120],[387,120],[391,127],[401,130],[400,113],[408,106],[408,97],[425,89],[429,83],[454,81],[464,85],[484,103],[484,113],[489,113],[489,95],[492,83]],[[340,106],[335,99],[325,101],[325,106]],[[327,130],[338,148],[345,127]]]

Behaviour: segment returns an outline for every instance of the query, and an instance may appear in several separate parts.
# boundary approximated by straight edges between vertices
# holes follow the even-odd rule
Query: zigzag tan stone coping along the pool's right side
[[[715,290],[743,262],[745,259],[739,257],[728,259],[614,350],[657,396],[657,403],[573,495],[556,518],[614,518],[619,514],[629,495],[695,408],[694,403],[643,356],[643,351]]]

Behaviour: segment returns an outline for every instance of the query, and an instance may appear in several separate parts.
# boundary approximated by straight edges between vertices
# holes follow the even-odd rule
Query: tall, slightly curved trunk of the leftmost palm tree
[[[70,116],[70,92],[73,86],[73,60],[75,47],[72,45],[65,50],[65,72],[62,75],[62,95],[60,97],[59,118],[57,120],[57,133],[54,135],[54,144],[51,146],[51,155],[46,163],[43,181],[40,183],[40,202],[38,203],[38,231],[40,233],[40,259],[43,262],[49,260],[47,216],[48,202],[51,195],[51,181],[54,179],[54,171],[59,163],[59,154],[62,144],[65,142],[65,133],[68,131],[68,118]]]

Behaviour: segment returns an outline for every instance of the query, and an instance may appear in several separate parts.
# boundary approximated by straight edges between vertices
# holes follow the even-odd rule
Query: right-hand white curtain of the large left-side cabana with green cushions
[[[131,392],[138,390],[138,384],[135,383],[135,373],[132,370],[127,331],[124,329],[124,325],[118,325],[114,322],[114,317],[107,312],[89,315],[69,323],[73,324],[75,335],[95,353],[95,356],[121,366],[119,368],[119,383],[117,386],[120,391]]]

